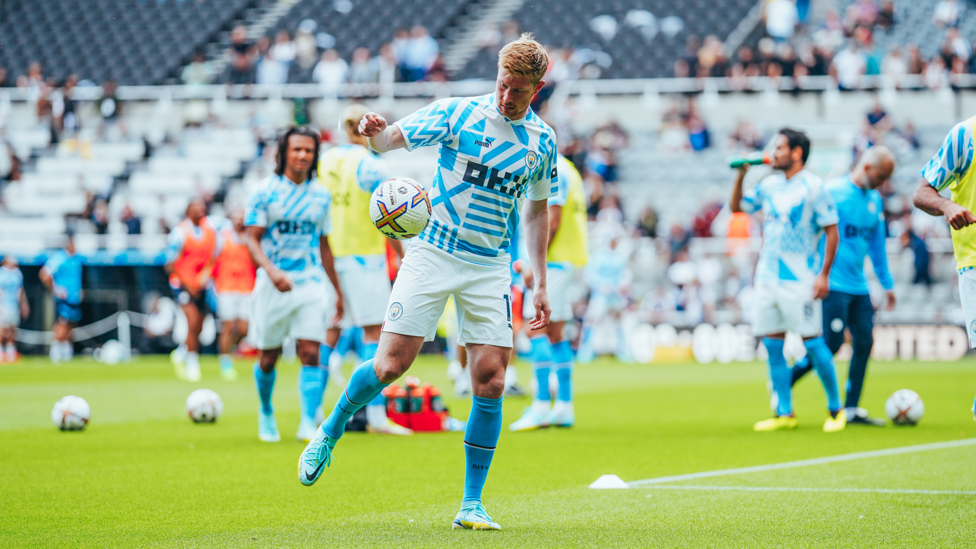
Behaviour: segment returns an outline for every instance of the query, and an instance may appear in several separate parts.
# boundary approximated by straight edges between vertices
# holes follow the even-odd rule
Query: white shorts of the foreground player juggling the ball
[[[417,242],[393,284],[383,331],[432,341],[447,298],[454,295],[459,345],[511,347],[511,284],[507,265],[476,265]]]

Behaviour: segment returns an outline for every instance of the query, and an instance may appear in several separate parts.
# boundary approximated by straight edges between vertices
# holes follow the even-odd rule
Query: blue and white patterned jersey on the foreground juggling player
[[[442,99],[396,125],[407,150],[440,145],[433,213],[418,241],[472,263],[508,265],[523,200],[557,190],[552,128],[531,110],[509,120],[494,94]]]

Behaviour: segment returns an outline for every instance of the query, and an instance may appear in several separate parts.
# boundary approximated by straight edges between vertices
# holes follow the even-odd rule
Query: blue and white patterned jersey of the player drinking
[[[763,212],[756,282],[813,283],[820,235],[824,227],[837,224],[837,206],[823,180],[807,170],[791,179],[775,173],[746,191],[741,205],[746,213]]]

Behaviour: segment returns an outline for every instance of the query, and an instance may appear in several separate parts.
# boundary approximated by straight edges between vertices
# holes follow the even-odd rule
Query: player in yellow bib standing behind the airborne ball
[[[376,356],[386,304],[390,298],[386,242],[389,241],[397,255],[403,257],[400,241],[383,236],[373,226],[369,216],[369,198],[388,176],[386,164],[369,149],[366,136],[359,133],[359,121],[367,113],[369,109],[358,103],[346,107],[342,112],[341,124],[349,142],[330,149],[319,161],[319,183],[332,193],[332,234],[329,241],[335,256],[336,272],[345,292],[343,324],[362,327],[363,360]],[[322,345],[324,357],[332,353],[341,331],[339,326],[329,327]],[[322,361],[326,362],[326,358]],[[319,379],[322,377],[325,379]],[[328,370],[302,370],[298,383],[303,388],[307,384],[325,387],[328,384]],[[304,392],[304,389],[300,391],[301,394]],[[310,440],[315,434],[314,415],[309,416],[308,420],[305,425],[309,432],[305,440]],[[367,429],[375,433],[413,434],[410,429],[386,417],[386,398],[382,394],[366,405],[366,423]]]

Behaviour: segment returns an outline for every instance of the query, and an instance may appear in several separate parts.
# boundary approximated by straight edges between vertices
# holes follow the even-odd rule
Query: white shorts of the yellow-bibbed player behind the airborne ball
[[[391,288],[386,256],[337,257],[335,265],[345,309],[339,327],[383,324]],[[330,282],[325,286],[329,296],[328,321],[335,315],[335,289]]]

